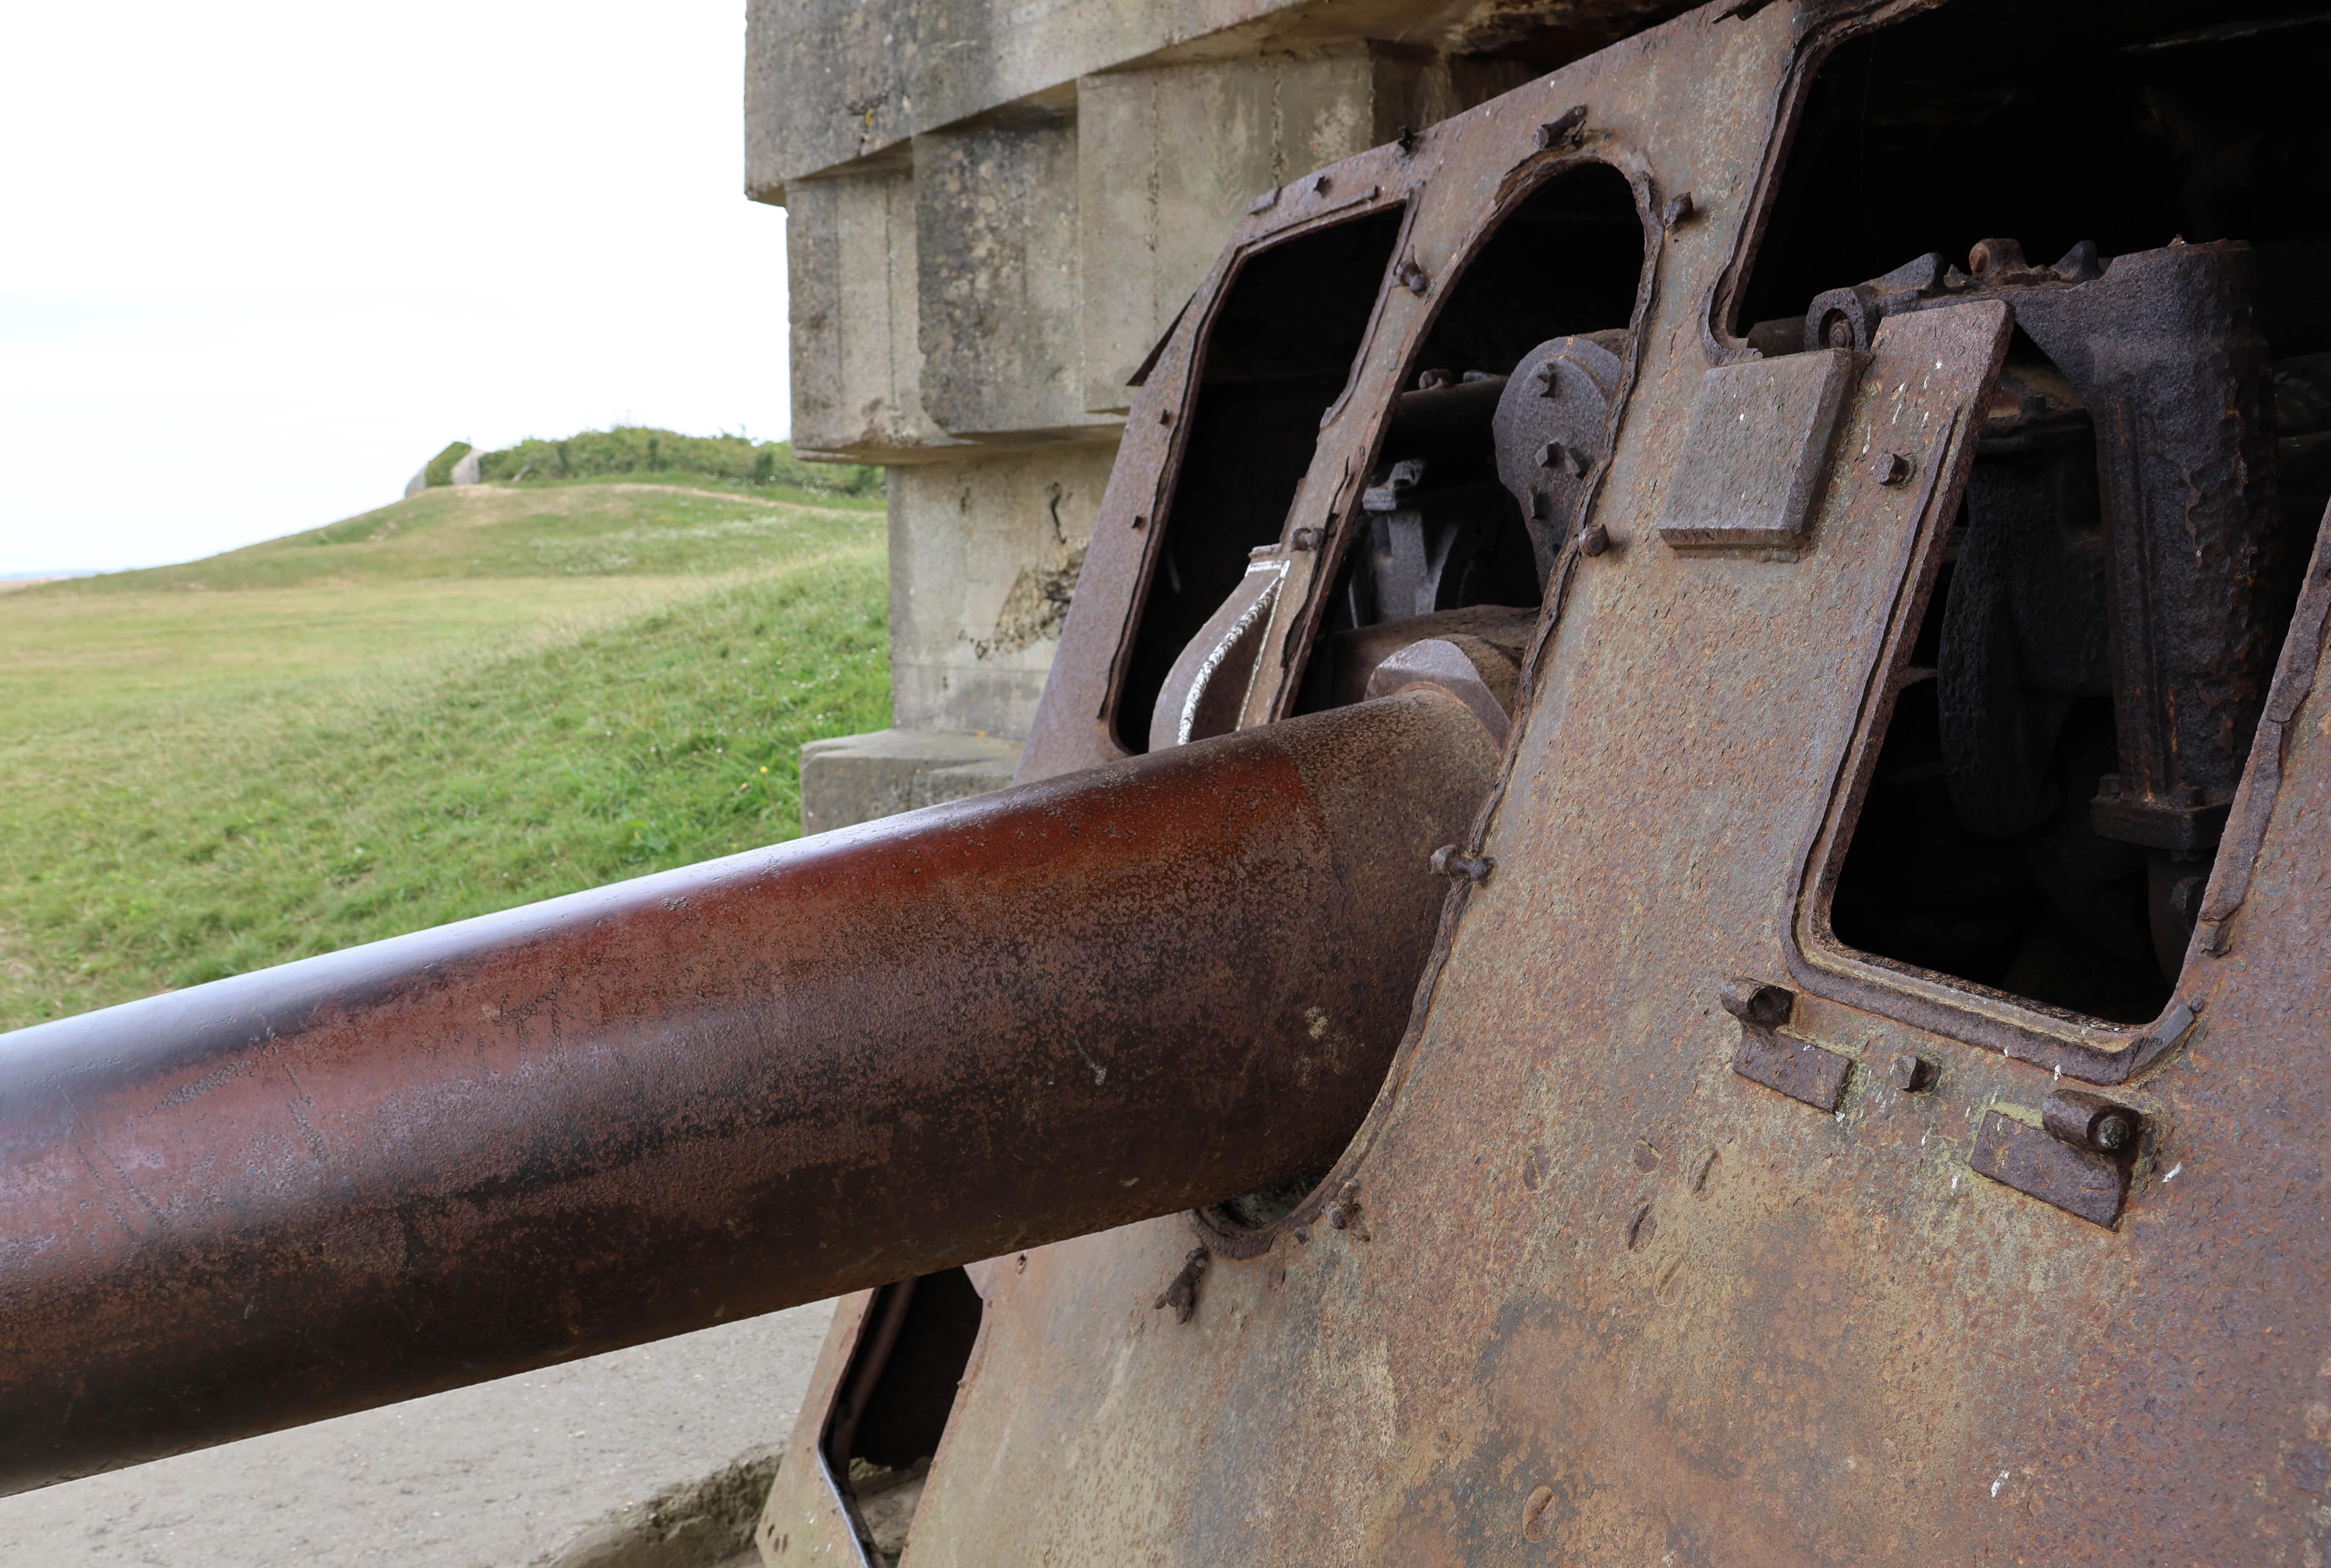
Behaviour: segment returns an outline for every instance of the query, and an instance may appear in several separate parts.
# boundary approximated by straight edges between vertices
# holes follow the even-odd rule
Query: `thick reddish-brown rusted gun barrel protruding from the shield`
[[[1494,769],[1406,692],[0,1039],[0,1484],[1333,1158]]]

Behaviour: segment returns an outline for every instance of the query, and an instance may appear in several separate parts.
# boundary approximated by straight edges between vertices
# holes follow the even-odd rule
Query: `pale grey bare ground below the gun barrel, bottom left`
[[[832,1302],[0,1498],[7,1568],[527,1568],[783,1445]]]

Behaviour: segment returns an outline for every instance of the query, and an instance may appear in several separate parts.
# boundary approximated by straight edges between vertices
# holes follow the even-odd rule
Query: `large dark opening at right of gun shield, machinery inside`
[[[2170,1004],[2331,496],[2331,16],[2254,9],[1960,0],[1804,98],[1748,342],[2016,319],[1809,881],[1809,948],[1879,986]]]

